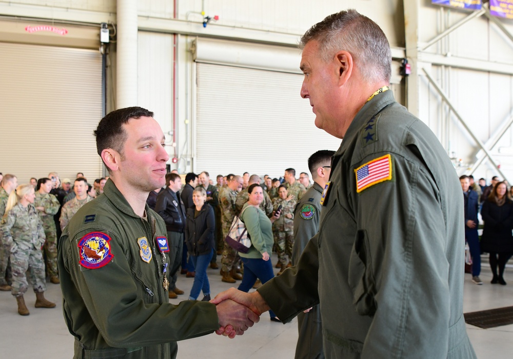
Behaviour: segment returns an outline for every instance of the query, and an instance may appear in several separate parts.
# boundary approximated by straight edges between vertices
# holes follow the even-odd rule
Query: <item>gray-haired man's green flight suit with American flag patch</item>
[[[358,193],[369,177],[356,170],[383,156],[391,178],[368,167],[377,177]],[[392,91],[377,94],[351,122],[330,182],[298,265],[258,289],[280,320],[320,303],[329,358],[475,358],[461,186],[435,134]]]

